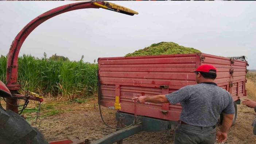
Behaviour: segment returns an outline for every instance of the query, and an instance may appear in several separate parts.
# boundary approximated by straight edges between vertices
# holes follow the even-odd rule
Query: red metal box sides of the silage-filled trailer
[[[203,64],[211,64],[217,68],[218,74],[214,82],[232,93],[234,101],[246,95],[246,62],[240,60],[234,60],[232,64],[229,58],[195,53],[98,58],[98,64],[101,83],[100,102],[103,106],[113,108],[115,86],[119,85],[121,112],[179,120],[182,110],[180,104],[134,104],[131,98],[172,93],[183,86],[194,85],[195,73],[191,71]],[[230,75],[230,69],[234,70],[233,75]],[[230,82],[234,83],[232,87],[229,87]],[[161,85],[169,87],[160,88]],[[168,112],[163,113],[162,110]]]

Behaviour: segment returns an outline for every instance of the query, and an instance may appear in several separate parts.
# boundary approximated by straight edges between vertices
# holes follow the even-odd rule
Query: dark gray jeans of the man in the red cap
[[[214,144],[216,127],[197,127],[179,124],[175,130],[174,144]]]

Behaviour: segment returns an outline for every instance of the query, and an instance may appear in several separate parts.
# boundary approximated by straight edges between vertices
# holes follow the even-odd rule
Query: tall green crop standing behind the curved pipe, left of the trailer
[[[0,80],[5,82],[7,58],[0,58]],[[95,63],[35,58],[23,55],[18,60],[18,82],[24,90],[57,96],[67,100],[97,93]]]

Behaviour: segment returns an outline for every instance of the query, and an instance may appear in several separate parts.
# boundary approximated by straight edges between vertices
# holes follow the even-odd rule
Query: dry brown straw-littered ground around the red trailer
[[[46,99],[46,103],[49,101],[53,100]],[[236,125],[230,129],[226,144],[256,144],[256,136],[253,135],[253,127],[251,126],[252,120],[256,115],[254,110],[245,105],[238,105],[237,107]],[[115,131],[103,124],[97,100],[92,98],[84,103],[75,102],[56,105],[55,109],[62,110],[62,112],[54,116],[41,118],[39,130],[47,140],[67,137],[94,141]],[[115,127],[115,110],[102,107],[102,114],[106,123]],[[35,121],[31,120],[31,124],[35,126]],[[174,132],[171,130],[140,132],[124,139],[124,144],[172,144],[173,134]]]

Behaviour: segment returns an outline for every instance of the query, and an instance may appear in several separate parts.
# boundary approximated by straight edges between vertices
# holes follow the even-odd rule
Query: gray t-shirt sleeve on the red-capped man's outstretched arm
[[[189,97],[187,86],[182,87],[181,89],[175,92],[166,94],[165,97],[172,105],[185,101]]]

